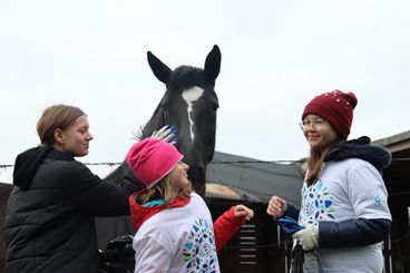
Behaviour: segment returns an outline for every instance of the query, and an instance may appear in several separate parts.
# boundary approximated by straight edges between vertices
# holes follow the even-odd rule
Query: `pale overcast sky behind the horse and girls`
[[[170,68],[203,67],[215,43],[216,150],[305,157],[303,107],[333,89],[358,97],[350,138],[400,134],[410,129],[409,12],[406,0],[0,0],[0,165],[39,143],[36,123],[53,104],[88,114],[82,162],[121,162],[165,91],[146,51]]]

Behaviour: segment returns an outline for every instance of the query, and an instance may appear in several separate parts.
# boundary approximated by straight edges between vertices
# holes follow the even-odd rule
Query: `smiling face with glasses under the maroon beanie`
[[[308,115],[302,120],[303,135],[313,149],[323,152],[339,140],[338,133],[323,118],[316,115]]]

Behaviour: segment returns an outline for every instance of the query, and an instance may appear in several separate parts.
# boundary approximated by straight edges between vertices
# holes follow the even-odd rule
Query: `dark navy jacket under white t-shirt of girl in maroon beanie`
[[[380,173],[391,164],[391,154],[381,146],[370,145],[369,137],[340,143],[332,148],[325,162],[360,158],[372,164]],[[287,216],[297,220],[299,209],[287,204]],[[322,221],[319,224],[320,247],[354,247],[381,242],[387,238],[391,221],[383,218],[352,218],[343,222]]]

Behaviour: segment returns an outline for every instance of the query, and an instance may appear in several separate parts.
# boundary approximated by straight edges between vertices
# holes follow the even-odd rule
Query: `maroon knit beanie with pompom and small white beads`
[[[353,109],[358,104],[353,92],[334,90],[314,97],[305,107],[302,120],[309,115],[318,115],[328,120],[342,139],[346,139],[352,126]]]

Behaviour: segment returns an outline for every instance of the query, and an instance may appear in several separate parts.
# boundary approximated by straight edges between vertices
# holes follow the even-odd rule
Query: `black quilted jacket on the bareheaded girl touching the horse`
[[[71,154],[40,146],[17,157],[13,184],[6,272],[99,272],[95,216],[129,214],[131,178],[107,183]]]

